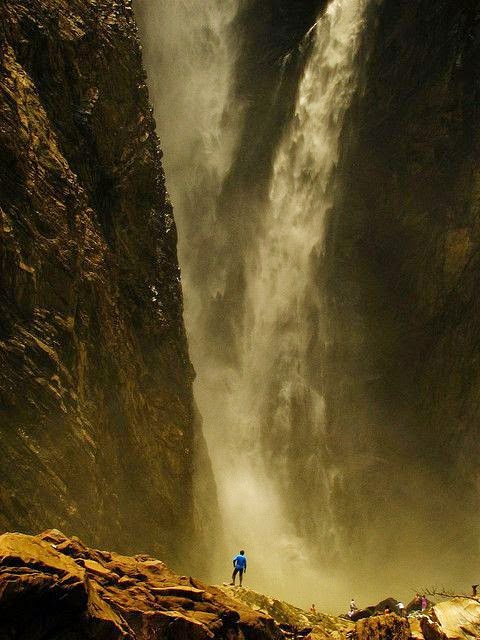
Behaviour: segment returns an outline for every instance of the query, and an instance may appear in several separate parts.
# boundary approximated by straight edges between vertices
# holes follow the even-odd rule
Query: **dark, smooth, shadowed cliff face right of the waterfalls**
[[[329,423],[351,461],[338,504],[350,542],[381,530],[395,558],[401,537],[431,576],[442,549],[453,577],[478,553],[480,14],[371,11],[327,237]]]

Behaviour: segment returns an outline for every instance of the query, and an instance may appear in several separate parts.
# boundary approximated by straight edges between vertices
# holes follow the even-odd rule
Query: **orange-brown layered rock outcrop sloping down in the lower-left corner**
[[[267,640],[268,615],[148,555],[87,548],[56,530],[0,537],[0,638]]]

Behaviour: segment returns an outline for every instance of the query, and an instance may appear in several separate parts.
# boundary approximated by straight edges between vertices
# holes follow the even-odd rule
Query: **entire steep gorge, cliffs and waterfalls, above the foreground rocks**
[[[135,2],[229,544],[295,602],[476,582],[477,5]],[[0,527],[202,574],[219,514],[131,7],[0,17]]]

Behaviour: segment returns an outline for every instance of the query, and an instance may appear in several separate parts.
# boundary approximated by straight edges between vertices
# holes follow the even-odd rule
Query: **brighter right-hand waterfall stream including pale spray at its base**
[[[206,423],[227,531],[232,531],[237,546],[250,551],[260,574],[252,576],[252,582],[265,590],[275,584],[277,592],[297,602],[311,593],[322,599],[323,607],[338,602],[342,585],[312,567],[309,545],[297,534],[299,523],[285,513],[281,492],[288,492],[291,473],[288,443],[292,432],[303,429],[302,439],[316,445],[315,450],[305,448],[299,460],[311,474],[311,488],[320,503],[319,542],[334,537],[329,493],[335,471],[327,468],[322,438],[324,399],[306,371],[308,314],[320,307],[312,299],[311,268],[323,252],[339,137],[355,89],[364,7],[364,0],[335,0],[316,26],[295,116],[275,161],[263,234],[257,251],[248,257],[248,328],[242,338],[241,373],[221,372],[223,380],[228,376],[223,386],[228,390],[220,415],[209,415]],[[199,385],[203,375],[199,368]],[[209,393],[215,388],[222,389],[221,380],[209,385]],[[267,398],[273,411],[265,410]],[[211,402],[205,406],[207,399],[202,399],[201,410],[207,415]],[[306,407],[302,424],[294,417],[298,400]],[[265,467],[261,450],[264,429],[268,441],[275,442],[271,468]],[[295,576],[301,577],[301,586]]]

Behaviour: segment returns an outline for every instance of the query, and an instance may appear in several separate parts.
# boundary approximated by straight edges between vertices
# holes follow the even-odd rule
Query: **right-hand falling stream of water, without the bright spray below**
[[[343,118],[356,87],[364,8],[364,0],[332,2],[316,25],[292,124],[274,164],[258,253],[251,260],[252,320],[243,349],[245,395],[256,403],[253,413],[264,448],[275,454],[277,483],[288,491],[292,476],[304,479],[300,490],[308,513],[321,516],[315,533],[330,543],[328,475],[333,470],[327,465],[321,352],[312,358],[314,343],[321,343],[324,333],[315,270],[324,250]],[[313,500],[306,495],[312,487]],[[298,515],[304,511],[298,509]],[[302,530],[298,523],[297,530]]]

